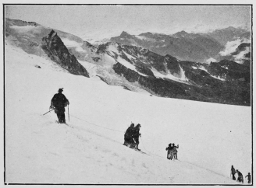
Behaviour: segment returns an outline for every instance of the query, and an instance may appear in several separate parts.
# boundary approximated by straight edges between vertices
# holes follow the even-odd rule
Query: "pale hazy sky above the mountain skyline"
[[[34,21],[84,39],[144,32],[206,32],[251,27],[251,6],[9,5],[5,16]]]

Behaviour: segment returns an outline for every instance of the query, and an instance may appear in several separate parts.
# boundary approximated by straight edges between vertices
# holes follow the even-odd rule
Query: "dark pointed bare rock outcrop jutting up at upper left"
[[[73,54],[69,53],[69,50],[54,30],[48,34],[48,37],[42,38],[41,47],[52,61],[65,68],[69,73],[73,75],[84,75],[89,78],[87,70],[76,60]]]

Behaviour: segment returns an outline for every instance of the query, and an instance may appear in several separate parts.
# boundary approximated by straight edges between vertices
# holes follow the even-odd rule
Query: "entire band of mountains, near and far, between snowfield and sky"
[[[227,30],[232,30],[233,38],[226,30],[212,35],[181,31],[172,36],[158,33],[132,36],[123,32],[96,47],[80,37],[37,23],[5,20],[5,40],[9,44],[54,61],[73,75],[98,76],[108,85],[148,92],[151,96],[250,106],[250,43],[226,53],[228,59],[200,63],[217,58],[225,50],[219,40],[248,37],[244,30]],[[233,57],[240,54],[246,61],[239,64]]]

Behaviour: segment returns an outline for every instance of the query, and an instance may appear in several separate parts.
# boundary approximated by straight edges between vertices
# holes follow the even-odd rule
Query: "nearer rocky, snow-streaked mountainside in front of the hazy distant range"
[[[143,47],[116,42],[94,47],[72,34],[20,20],[7,19],[5,31],[6,40],[28,54],[54,60],[75,75],[98,76],[108,85],[154,96],[251,105],[251,68],[246,64],[229,61],[229,68],[233,68],[227,70],[224,65],[180,61],[169,54],[162,56]],[[198,38],[197,34],[176,34],[183,36],[184,40]],[[122,37],[130,35],[122,33]],[[141,37],[161,39],[152,33]]]

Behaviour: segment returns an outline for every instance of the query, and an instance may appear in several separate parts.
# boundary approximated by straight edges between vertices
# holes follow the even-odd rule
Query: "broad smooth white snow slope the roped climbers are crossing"
[[[62,87],[69,126],[42,116]],[[131,121],[148,155],[123,146]],[[170,142],[178,161],[166,159]],[[231,165],[251,172],[251,107],[130,92],[7,44],[5,159],[7,183],[233,184]]]

